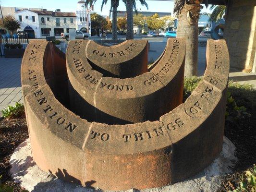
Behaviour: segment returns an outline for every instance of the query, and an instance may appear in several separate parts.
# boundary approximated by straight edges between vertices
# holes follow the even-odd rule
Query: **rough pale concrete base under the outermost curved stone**
[[[222,152],[210,166],[193,178],[161,188],[142,190],[142,192],[215,192],[221,183],[221,175],[231,173],[236,162],[235,146],[224,137]],[[31,156],[29,139],[20,144],[11,156],[12,178],[22,187],[32,192],[93,192],[95,190],[54,179],[49,173],[37,167]],[[148,175],[151,173],[149,172]],[[97,187],[95,187],[98,189]],[[128,190],[126,192],[133,192]]]

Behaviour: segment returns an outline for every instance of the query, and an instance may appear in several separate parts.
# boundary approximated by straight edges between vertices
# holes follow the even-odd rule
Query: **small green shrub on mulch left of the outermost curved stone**
[[[15,118],[20,117],[24,113],[24,105],[21,103],[15,103],[14,106],[8,106],[2,110],[4,118]]]

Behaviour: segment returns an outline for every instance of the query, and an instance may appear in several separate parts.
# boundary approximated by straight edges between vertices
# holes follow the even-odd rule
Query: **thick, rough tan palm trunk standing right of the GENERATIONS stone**
[[[197,74],[198,19],[202,0],[174,0],[173,12],[178,15],[177,37],[186,40],[185,71],[187,77]]]

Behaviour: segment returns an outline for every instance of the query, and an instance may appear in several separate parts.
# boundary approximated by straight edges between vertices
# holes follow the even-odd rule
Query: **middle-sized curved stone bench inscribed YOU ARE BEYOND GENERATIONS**
[[[150,72],[126,79],[104,77],[93,70],[84,52],[88,43],[70,41],[66,52],[71,108],[77,115],[89,121],[128,124],[158,120],[182,103],[183,39],[169,39]]]

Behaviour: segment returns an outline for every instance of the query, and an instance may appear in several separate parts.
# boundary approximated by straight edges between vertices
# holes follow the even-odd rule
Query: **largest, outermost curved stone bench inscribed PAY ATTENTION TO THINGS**
[[[185,103],[160,120],[128,125],[90,123],[63,106],[56,79],[66,76],[64,61],[51,43],[35,40],[22,62],[32,156],[42,170],[87,187],[140,190],[187,179],[219,155],[229,73],[224,40],[208,40],[203,82]]]

